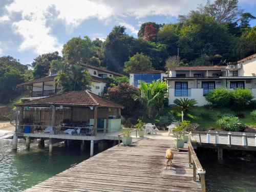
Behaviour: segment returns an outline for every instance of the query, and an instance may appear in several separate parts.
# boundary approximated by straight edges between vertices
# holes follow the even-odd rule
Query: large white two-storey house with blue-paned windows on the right
[[[177,98],[196,99],[199,106],[207,104],[205,95],[217,88],[250,89],[256,97],[256,54],[227,66],[172,67],[165,77],[169,105]]]

